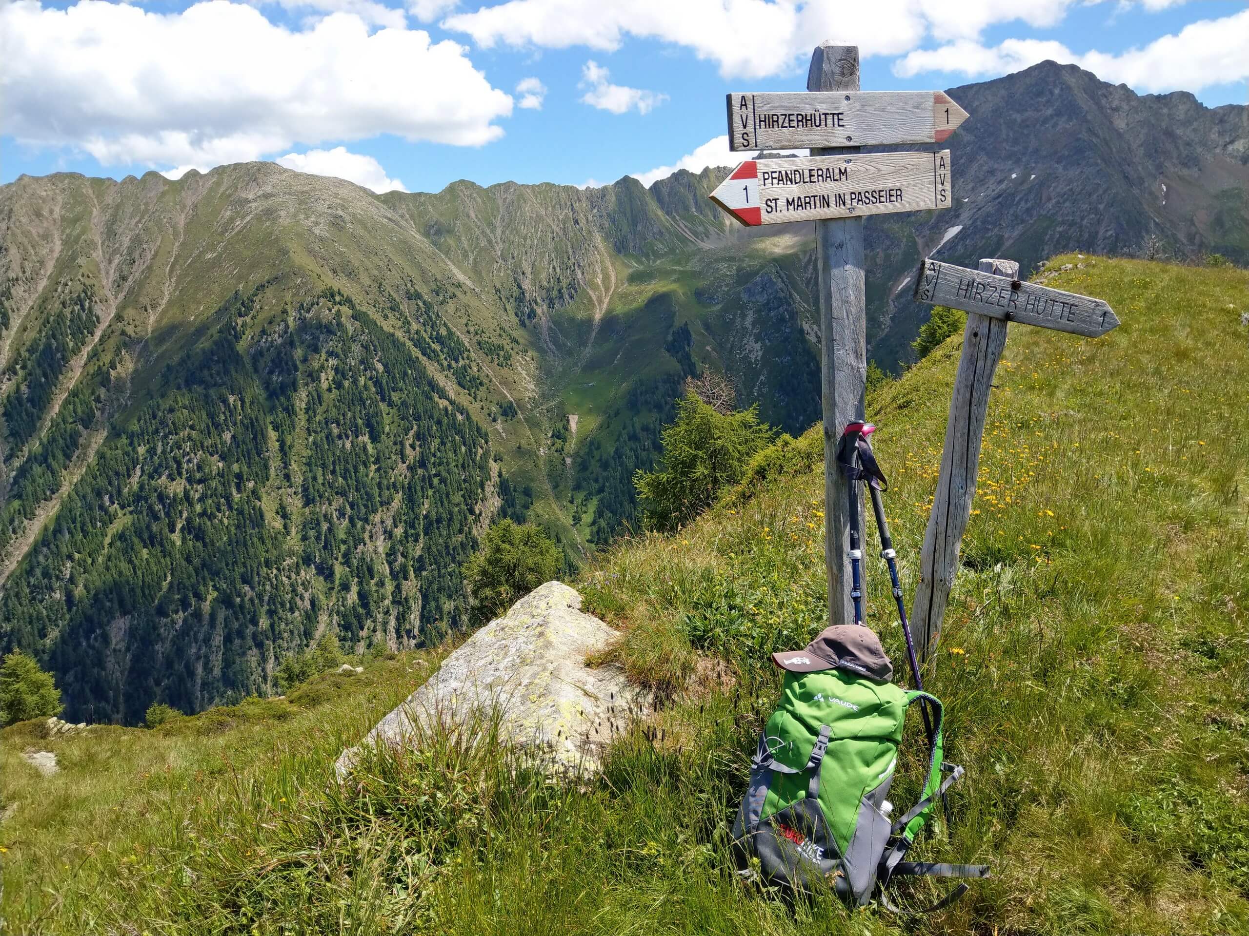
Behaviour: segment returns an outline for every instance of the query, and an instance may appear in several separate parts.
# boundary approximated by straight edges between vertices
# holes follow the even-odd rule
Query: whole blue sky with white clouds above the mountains
[[[0,182],[250,158],[375,190],[649,182],[729,162],[724,92],[801,90],[821,39],[859,44],[864,90],[1058,59],[1249,102],[1233,0],[0,0]]]

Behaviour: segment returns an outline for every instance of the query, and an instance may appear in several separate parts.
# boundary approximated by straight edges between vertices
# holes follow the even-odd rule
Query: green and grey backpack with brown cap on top
[[[903,861],[937,800],[963,774],[942,758],[942,705],[891,679],[893,666],[876,634],[853,624],[827,628],[806,649],[773,654],[786,669],[781,705],[768,719],[751,769],[733,842],[738,866],[757,857],[769,884],[831,886],[864,905],[899,875],[987,877],[983,865]],[[923,796],[893,819],[888,801],[907,709],[923,700],[936,716]],[[948,776],[942,780],[942,774]],[[967,891],[960,884],[927,910]]]

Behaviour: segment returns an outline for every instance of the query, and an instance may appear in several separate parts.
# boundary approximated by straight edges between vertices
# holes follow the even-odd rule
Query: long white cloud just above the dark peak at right
[[[1088,69],[1104,81],[1140,91],[1199,91],[1209,85],[1249,79],[1249,10],[1189,24],[1140,49],[1119,54],[1073,52],[1062,42],[1008,39],[997,46],[958,41],[914,51],[894,64],[894,74],[955,72],[970,77],[1004,75],[1053,59]]]

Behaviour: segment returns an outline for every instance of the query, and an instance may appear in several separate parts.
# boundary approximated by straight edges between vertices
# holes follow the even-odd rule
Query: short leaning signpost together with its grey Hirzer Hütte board
[[[958,572],[958,550],[972,515],[989,389],[1007,343],[1007,324],[1025,322],[1097,337],[1119,324],[1102,300],[1019,281],[1010,260],[982,260],[979,271],[923,260],[916,276],[919,302],[967,312],[963,354],[945,423],[945,447],[933,509],[919,558],[919,585],[911,612],[919,654],[926,658],[940,634],[945,603]]]

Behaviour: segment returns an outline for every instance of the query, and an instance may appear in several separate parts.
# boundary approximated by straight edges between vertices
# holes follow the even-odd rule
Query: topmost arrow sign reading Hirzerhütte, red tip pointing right
[[[942,91],[728,95],[731,150],[943,144],[967,111]]]

